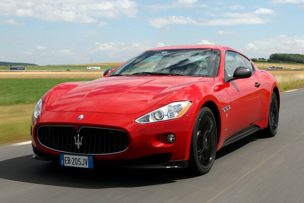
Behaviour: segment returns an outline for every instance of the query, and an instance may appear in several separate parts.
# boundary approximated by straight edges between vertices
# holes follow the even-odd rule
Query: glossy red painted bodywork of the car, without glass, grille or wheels
[[[47,149],[37,141],[36,130],[40,125],[97,126],[124,130],[130,139],[126,151],[95,156],[97,160],[128,160],[157,153],[172,153],[171,161],[185,160],[189,157],[197,114],[207,102],[216,105],[220,117],[217,150],[225,139],[250,125],[258,125],[261,129],[267,127],[271,93],[278,88],[274,77],[255,66],[255,73],[250,78],[225,83],[224,52],[236,51],[229,47],[196,45],[153,50],[188,48],[220,50],[218,75],[215,78],[119,76],[57,85],[43,96],[41,116],[32,118],[33,146],[44,153],[59,156],[59,152]],[[254,86],[256,82],[261,83],[258,88]],[[190,100],[193,104],[179,119],[150,124],[134,121],[173,101],[182,100]],[[223,113],[222,109],[229,105],[231,110]],[[229,116],[226,117],[226,113]],[[77,120],[81,114],[84,119]],[[175,143],[160,139],[168,133],[176,135]]]

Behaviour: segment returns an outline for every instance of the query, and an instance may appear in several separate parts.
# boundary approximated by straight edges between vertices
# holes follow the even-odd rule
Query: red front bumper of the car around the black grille
[[[84,119],[77,120],[79,115],[84,115]],[[186,167],[196,115],[185,115],[179,119],[149,124],[136,123],[134,120],[138,117],[138,115],[93,112],[44,111],[37,120],[32,119],[33,158],[59,160],[60,153],[66,153],[43,146],[37,139],[39,126],[69,125],[77,130],[83,126],[90,126],[123,130],[129,138],[129,147],[125,151],[116,154],[93,155],[94,161],[104,165],[124,167]],[[175,134],[174,143],[167,142],[166,136],[170,133]]]

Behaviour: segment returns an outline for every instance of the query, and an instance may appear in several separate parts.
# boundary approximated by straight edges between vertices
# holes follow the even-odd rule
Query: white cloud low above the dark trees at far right
[[[304,37],[271,37],[265,41],[250,42],[245,49],[252,57],[269,57],[272,53],[304,54]]]

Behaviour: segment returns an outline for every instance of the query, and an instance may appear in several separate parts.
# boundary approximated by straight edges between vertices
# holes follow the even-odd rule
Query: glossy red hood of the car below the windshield
[[[63,83],[55,87],[46,109],[135,114],[202,79],[182,76],[120,76],[90,82]]]

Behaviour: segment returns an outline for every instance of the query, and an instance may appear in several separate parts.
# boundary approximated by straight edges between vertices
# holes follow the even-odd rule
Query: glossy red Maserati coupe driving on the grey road
[[[229,47],[151,49],[104,75],[57,85],[38,101],[33,158],[205,174],[221,147],[278,129],[277,81]]]

